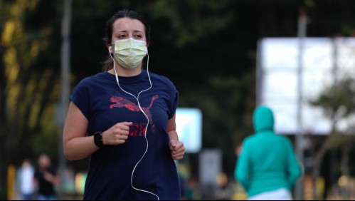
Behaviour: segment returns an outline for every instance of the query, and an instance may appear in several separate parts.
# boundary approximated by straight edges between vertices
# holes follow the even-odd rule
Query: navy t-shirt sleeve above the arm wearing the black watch
[[[83,113],[83,115],[85,115],[87,119],[90,119],[89,91],[85,83],[85,80],[80,81],[80,83],[78,83],[78,85],[73,89],[69,99],[78,106],[80,111]]]

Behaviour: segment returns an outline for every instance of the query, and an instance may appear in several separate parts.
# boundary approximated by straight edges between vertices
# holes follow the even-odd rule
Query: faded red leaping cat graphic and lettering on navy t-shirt
[[[144,111],[144,113],[148,117],[149,124],[152,126],[153,131],[155,130],[155,125],[152,120],[152,113],[150,113],[150,108],[152,108],[154,100],[156,100],[157,98],[159,98],[159,96],[157,94],[154,95],[147,108],[144,108],[141,106],[142,110]],[[112,109],[112,108],[127,108],[128,110],[131,110],[134,112],[140,112],[139,106],[136,103],[132,103],[130,100],[127,100],[127,99],[122,98],[120,96],[112,96],[110,98],[110,101],[112,103],[114,103],[114,104],[110,105],[110,109]],[[145,123],[133,123],[131,125],[131,127],[129,128],[129,135],[131,135],[131,136],[144,135],[145,128],[146,128]]]

